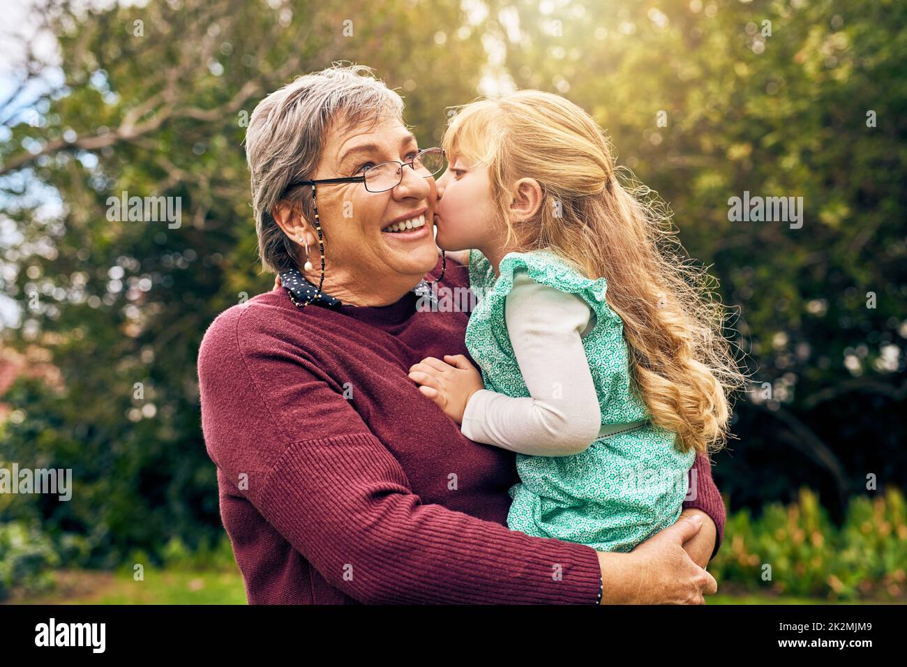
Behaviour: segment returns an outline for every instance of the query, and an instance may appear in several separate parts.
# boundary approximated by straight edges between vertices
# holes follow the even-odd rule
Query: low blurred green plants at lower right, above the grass
[[[708,570],[722,593],[762,591],[829,600],[903,601],[907,596],[907,506],[891,488],[854,497],[835,528],[818,497],[801,489],[787,507],[730,516],[727,544]],[[725,590],[723,584],[729,584]]]

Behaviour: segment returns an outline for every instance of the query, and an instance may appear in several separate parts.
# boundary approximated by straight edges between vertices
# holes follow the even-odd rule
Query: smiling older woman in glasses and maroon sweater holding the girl
[[[466,355],[468,313],[417,308],[438,260],[434,175],[362,67],[265,98],[247,153],[279,286],[199,354],[202,427],[249,603],[702,603],[724,506],[705,457],[678,523],[627,554],[506,528],[514,455],[466,439],[407,377]]]

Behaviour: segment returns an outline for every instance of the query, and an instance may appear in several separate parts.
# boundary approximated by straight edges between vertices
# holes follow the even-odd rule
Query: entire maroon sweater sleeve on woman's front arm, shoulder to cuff
[[[206,445],[328,583],[363,603],[595,602],[593,549],[424,504],[344,388],[278,335],[239,335],[240,317],[200,350]]]

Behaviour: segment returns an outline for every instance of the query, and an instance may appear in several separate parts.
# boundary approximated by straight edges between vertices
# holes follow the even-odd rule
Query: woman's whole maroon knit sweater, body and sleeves
[[[448,262],[442,285],[466,270]],[[205,334],[201,424],[249,603],[594,603],[596,552],[508,530],[513,453],[467,439],[407,378],[468,356],[468,314],[415,299],[300,310],[277,288]],[[694,469],[684,505],[715,521],[717,550],[724,505],[707,459]]]

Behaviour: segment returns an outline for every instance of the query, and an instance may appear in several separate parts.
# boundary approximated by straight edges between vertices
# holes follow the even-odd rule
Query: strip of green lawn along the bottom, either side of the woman
[[[132,574],[90,570],[54,573],[53,591],[14,596],[20,604],[245,604],[246,591],[239,571],[189,569],[145,570],[143,581]],[[765,594],[719,594],[708,604],[835,604],[828,600]]]

